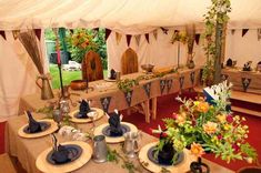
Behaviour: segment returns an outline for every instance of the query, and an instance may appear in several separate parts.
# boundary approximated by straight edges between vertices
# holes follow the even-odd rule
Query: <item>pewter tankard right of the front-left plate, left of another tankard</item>
[[[107,144],[104,135],[96,135],[93,138],[93,161],[102,163],[107,161]]]

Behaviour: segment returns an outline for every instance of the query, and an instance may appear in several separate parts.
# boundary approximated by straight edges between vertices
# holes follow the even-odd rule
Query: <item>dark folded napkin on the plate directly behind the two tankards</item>
[[[109,124],[111,136],[121,136],[123,134],[119,113],[113,112],[110,114]]]

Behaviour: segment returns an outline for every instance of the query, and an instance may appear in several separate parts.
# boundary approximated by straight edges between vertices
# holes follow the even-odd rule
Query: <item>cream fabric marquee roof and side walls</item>
[[[108,28],[113,31],[107,41],[109,68],[119,70],[119,58],[128,47],[123,41],[119,45],[116,43],[114,32],[144,34],[160,27],[173,31],[191,23],[202,32],[203,14],[210,4],[211,0],[0,0],[0,31],[6,31],[7,37],[4,40],[0,35],[0,118],[16,115],[19,99],[38,90],[34,84],[37,70],[20,41],[13,39],[12,30]],[[225,54],[239,58],[241,65],[247,55],[257,62],[261,55],[258,49],[261,43],[255,37],[257,29],[261,28],[261,2],[231,0],[231,7],[228,28],[237,32],[235,35],[228,32]],[[238,32],[241,29],[250,29],[247,40],[242,40],[241,32]],[[142,37],[139,47],[133,39],[130,47],[138,52],[140,63],[165,65],[174,63],[177,54],[177,44],[169,44],[169,39],[170,35],[159,32],[158,41],[148,44]],[[44,52],[43,39],[41,41]],[[185,54],[184,45],[181,52]],[[195,61],[202,64],[204,52],[201,44],[195,45]],[[165,57],[162,64],[155,62],[159,55]]]

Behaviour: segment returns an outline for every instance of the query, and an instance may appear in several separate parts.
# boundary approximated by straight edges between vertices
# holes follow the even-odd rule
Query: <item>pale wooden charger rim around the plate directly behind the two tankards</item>
[[[124,125],[128,125],[130,128],[130,132],[138,132],[138,129],[135,125],[128,123],[128,122],[121,122],[121,123]],[[94,130],[94,135],[102,134],[102,130],[108,125],[109,125],[109,123],[104,123],[104,124],[101,124],[100,126],[97,126]],[[119,142],[123,142],[123,141],[124,141],[123,136],[106,136],[107,143],[119,143]]]

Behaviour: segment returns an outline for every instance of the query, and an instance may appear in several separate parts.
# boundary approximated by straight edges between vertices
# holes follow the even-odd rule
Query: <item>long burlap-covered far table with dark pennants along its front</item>
[[[150,77],[151,74],[138,72],[122,75],[121,79],[137,79],[141,75]],[[144,113],[149,114],[148,116],[150,116],[151,113],[152,118],[155,119],[158,96],[181,92],[185,89],[192,89],[198,84],[199,78],[200,67],[197,67],[194,69],[180,69],[177,73],[170,73],[159,78],[141,80],[139,85],[133,86],[129,104],[126,99],[126,93],[118,89],[117,83],[108,82],[106,80],[90,82],[89,86],[93,88],[93,91],[88,91],[88,93],[86,91],[73,90],[70,92],[76,93],[71,94],[72,102],[77,102],[80,99],[88,99],[92,101],[92,106],[101,108],[106,112],[112,112],[114,109],[126,110],[139,103],[144,103],[144,109],[147,109],[144,110]],[[150,85],[148,92],[144,89],[147,84]],[[58,90],[54,90],[54,93],[58,93]],[[24,110],[36,111],[48,105],[48,102],[58,100],[58,94],[54,95],[56,98],[51,100],[41,100],[40,93],[21,98],[19,114],[22,114]],[[152,108],[150,108],[150,100],[152,100]],[[104,101],[108,103],[107,106],[104,106]],[[108,108],[108,110],[106,110],[106,108]]]

